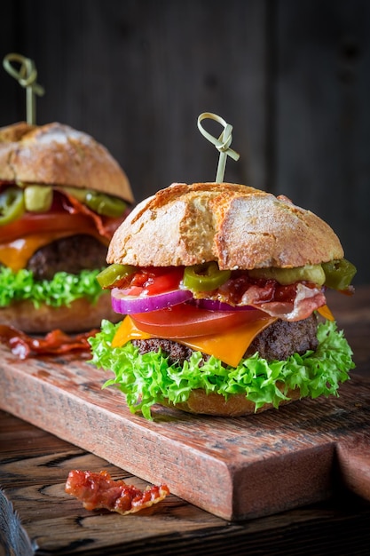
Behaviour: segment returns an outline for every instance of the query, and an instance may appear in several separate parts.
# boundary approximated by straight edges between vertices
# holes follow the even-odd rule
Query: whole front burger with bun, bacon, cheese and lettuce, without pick
[[[326,305],[356,272],[334,231],[285,196],[228,183],[173,184],[114,233],[119,324],[91,338],[132,411],[154,403],[240,416],[336,394],[351,350]]]

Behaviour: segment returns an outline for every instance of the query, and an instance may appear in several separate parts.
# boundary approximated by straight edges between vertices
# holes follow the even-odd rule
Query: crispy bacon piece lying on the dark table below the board
[[[114,481],[106,471],[70,471],[66,492],[83,502],[86,510],[106,509],[122,515],[134,513],[161,502],[169,494],[166,485],[140,490],[124,481]]]

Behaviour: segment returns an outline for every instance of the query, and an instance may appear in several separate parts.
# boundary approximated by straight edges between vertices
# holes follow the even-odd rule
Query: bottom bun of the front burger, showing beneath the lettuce
[[[281,390],[283,385],[281,385]],[[288,400],[280,401],[281,405],[287,405],[291,401],[301,398],[299,389],[289,390],[287,392]],[[174,407],[186,411],[187,413],[196,413],[199,415],[212,415],[214,417],[242,417],[251,413],[260,413],[266,409],[272,409],[271,403],[265,403],[260,409],[255,409],[255,403],[248,400],[241,393],[232,394],[227,401],[222,394],[206,393],[204,390],[197,389],[190,393],[187,401],[177,403]]]

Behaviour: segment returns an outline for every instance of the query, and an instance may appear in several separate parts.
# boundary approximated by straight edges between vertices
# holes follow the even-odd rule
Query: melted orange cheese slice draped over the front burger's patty
[[[278,320],[277,317],[271,317],[268,314],[261,316],[259,311],[256,311],[256,313],[258,313],[258,317],[254,321],[248,320],[246,324],[225,330],[221,334],[197,336],[194,338],[176,338],[175,341],[202,353],[214,355],[227,365],[237,367],[254,338],[262,330],[270,326],[272,322]],[[126,316],[114,335],[112,347],[124,346],[132,339],[144,340],[149,338],[160,337],[142,332],[132,322],[130,316]]]

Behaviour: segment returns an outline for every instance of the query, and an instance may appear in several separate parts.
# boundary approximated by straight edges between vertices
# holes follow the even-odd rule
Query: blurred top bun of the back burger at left
[[[106,147],[62,123],[0,128],[0,179],[88,187],[134,202],[126,174]]]

